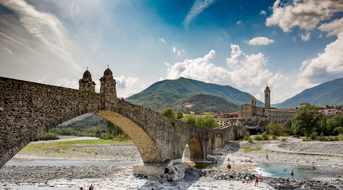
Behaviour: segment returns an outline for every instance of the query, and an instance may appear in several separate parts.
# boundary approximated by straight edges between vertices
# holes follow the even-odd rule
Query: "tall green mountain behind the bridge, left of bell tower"
[[[238,106],[250,103],[250,99],[253,98],[251,94],[228,85],[218,85],[180,77],[176,80],[156,82],[125,100],[157,112],[162,112],[166,108],[186,111],[186,109],[180,108],[178,103],[198,94],[222,97]],[[261,101],[257,101],[257,105],[263,106],[264,104]]]

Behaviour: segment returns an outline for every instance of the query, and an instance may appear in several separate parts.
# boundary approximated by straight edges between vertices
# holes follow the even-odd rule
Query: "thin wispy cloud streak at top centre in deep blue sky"
[[[189,23],[214,1],[215,0],[195,0],[191,10],[188,12],[185,20],[183,21],[183,26],[187,28]]]

